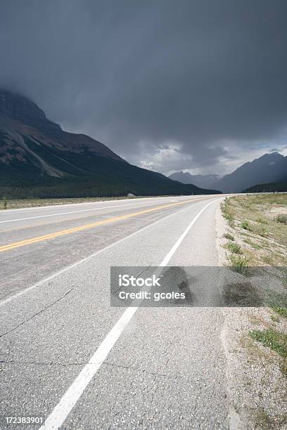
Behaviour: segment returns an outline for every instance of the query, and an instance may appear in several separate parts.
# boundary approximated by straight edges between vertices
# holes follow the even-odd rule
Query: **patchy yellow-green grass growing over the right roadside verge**
[[[227,221],[232,219],[232,222],[229,222],[230,233],[224,235],[228,240],[224,247],[227,249],[227,261],[232,270],[243,275],[250,275],[252,269],[249,266],[275,266],[277,268],[280,266],[279,273],[276,269],[276,272],[273,273],[274,268],[270,269],[271,271],[268,273],[270,276],[276,276],[282,287],[287,285],[287,216],[280,214],[274,219],[276,212],[278,214],[286,209],[287,194],[241,195],[225,200],[222,205],[222,214]],[[262,285],[262,287],[264,289],[266,286]],[[279,366],[281,373],[287,377],[287,334],[284,330],[284,323],[287,320],[286,294],[283,294],[283,297],[277,297],[272,290],[272,294],[267,294],[262,304],[259,304],[260,294],[256,297],[252,281],[250,281],[250,292],[246,288],[243,291],[234,289],[231,292],[234,295],[237,294],[238,303],[243,303],[245,294],[247,303],[251,297],[250,303],[253,303],[251,306],[264,304],[264,306],[272,308],[271,324],[270,320],[260,321],[258,328],[261,330],[250,331],[248,338],[256,350],[260,363],[267,364],[270,361],[269,365]],[[257,299],[258,305],[254,305]],[[254,341],[265,348],[258,348]],[[276,358],[272,351],[279,356]],[[266,424],[269,422],[269,416],[264,412],[261,420]]]

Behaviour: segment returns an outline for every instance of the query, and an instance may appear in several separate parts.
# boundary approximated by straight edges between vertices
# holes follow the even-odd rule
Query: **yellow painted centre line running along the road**
[[[127,215],[114,216],[113,218],[96,221],[96,223],[85,224],[84,226],[79,226],[75,228],[69,228],[68,230],[60,230],[60,231],[57,231],[56,233],[49,233],[49,235],[32,237],[31,239],[21,240],[20,242],[14,242],[8,245],[3,245],[0,247],[0,252],[9,251],[10,249],[15,249],[18,247],[25,247],[26,245],[32,245],[33,243],[43,242],[44,240],[54,239],[55,237],[70,235],[71,233],[77,233],[78,231],[87,230],[87,228],[103,226],[105,224],[114,223],[115,221],[121,221],[122,219],[133,218],[134,216],[148,214],[149,212],[158,211],[160,209],[167,209],[168,207],[179,206],[179,204],[194,202],[196,200],[202,200],[202,199],[190,199],[190,200],[184,200],[183,202],[164,204],[161,206],[153,207],[151,209],[145,209],[144,211],[133,212],[132,214],[127,214]]]

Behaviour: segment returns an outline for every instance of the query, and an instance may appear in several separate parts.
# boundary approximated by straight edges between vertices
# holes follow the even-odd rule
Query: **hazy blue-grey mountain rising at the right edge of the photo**
[[[258,183],[275,183],[284,181],[287,176],[287,157],[272,152],[247,162],[233,173],[223,176],[216,187],[223,193],[241,193]]]

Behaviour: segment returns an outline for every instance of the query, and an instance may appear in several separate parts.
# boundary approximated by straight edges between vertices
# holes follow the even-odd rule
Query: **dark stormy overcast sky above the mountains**
[[[165,174],[287,153],[286,0],[1,0],[0,86]]]

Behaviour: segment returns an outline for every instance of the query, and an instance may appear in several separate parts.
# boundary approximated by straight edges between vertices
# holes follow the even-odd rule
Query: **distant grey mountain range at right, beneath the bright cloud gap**
[[[182,171],[170,175],[170,178],[195,185],[205,183],[206,187],[217,188],[222,193],[241,193],[241,191],[258,184],[286,183],[287,157],[279,154],[279,152],[264,154],[252,162],[243,164],[222,178],[216,175],[191,175]],[[215,180],[213,181],[212,178]]]

